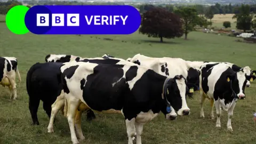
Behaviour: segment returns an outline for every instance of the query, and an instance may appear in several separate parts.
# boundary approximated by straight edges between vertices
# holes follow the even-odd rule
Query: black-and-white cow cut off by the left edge
[[[10,90],[10,99],[17,99],[16,74],[21,82],[18,70],[18,60],[15,57],[0,57],[0,84],[8,86]]]

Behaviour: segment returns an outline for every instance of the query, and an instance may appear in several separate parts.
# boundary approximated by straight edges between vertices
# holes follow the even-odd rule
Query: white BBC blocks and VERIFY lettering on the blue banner
[[[36,26],[50,26],[50,15],[46,13],[36,14]],[[87,25],[116,25],[117,22],[122,22],[125,25],[125,21],[128,15],[91,15],[90,18],[84,15]],[[68,13],[66,15],[67,26],[79,26],[79,13]],[[93,22],[93,23],[92,23]],[[65,26],[65,14],[52,14],[52,26]]]

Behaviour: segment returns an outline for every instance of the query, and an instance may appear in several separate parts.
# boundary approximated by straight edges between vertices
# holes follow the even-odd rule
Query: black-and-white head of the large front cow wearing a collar
[[[174,78],[167,78],[163,88],[163,99],[167,103],[166,109],[172,106],[180,116],[189,115],[190,113],[186,101],[186,83],[186,79],[182,75],[177,75]]]

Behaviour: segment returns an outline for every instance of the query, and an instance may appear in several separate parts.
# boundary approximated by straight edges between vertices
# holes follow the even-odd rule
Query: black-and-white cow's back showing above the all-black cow
[[[66,54],[47,54],[45,57],[45,62],[69,62],[69,61],[79,61],[83,58],[75,55],[66,55]]]

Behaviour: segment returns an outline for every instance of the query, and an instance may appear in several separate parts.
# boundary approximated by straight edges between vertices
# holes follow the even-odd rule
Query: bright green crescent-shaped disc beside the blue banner
[[[25,15],[29,8],[24,5],[17,5],[12,7],[6,14],[6,26],[14,34],[22,35],[29,32],[25,25]]]

